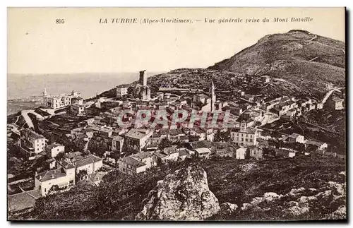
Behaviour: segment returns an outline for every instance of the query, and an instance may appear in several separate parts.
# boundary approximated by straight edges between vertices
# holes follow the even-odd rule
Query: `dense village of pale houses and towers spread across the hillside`
[[[226,100],[212,80],[201,86],[164,83],[155,91],[145,71],[138,79],[116,86],[114,97],[84,100],[79,92],[49,95],[44,90],[40,108],[8,121],[10,212],[31,210],[37,198],[67,191],[78,182],[99,185],[114,169],[135,175],[160,164],[210,157],[345,158],[333,140],[339,130],[332,124],[345,112],[342,88],[327,85],[321,100],[245,90],[223,91],[232,93]],[[253,76],[242,86],[266,87],[274,81]],[[132,114],[141,110],[150,118]],[[166,115],[159,116],[160,111]],[[175,115],[180,111],[187,115],[175,124],[172,117],[181,119]],[[316,118],[319,114],[322,121]],[[232,127],[225,125],[225,116]]]

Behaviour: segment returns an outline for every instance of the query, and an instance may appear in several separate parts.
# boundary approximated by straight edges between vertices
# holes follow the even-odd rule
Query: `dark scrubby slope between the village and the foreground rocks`
[[[329,181],[340,183],[345,181],[339,175],[345,171],[345,161],[342,160],[307,157],[261,161],[225,158],[189,160],[171,164],[169,167],[150,169],[136,176],[111,172],[104,176],[100,186],[81,184],[71,188],[70,191],[40,198],[33,212],[26,216],[37,220],[134,220],[145,204],[144,199],[148,198],[148,193],[156,186],[157,181],[191,163],[205,169],[210,191],[220,203],[229,202],[237,205],[250,203],[253,198],[261,197],[268,192],[285,195],[292,189],[320,189]],[[325,215],[337,210],[337,205],[330,208],[320,201],[314,206],[324,207]],[[319,211],[321,213],[313,213],[311,219],[324,218],[322,210]],[[222,219],[222,216],[216,218]],[[254,220],[256,217],[247,212],[227,219]],[[287,219],[295,220],[297,217]]]

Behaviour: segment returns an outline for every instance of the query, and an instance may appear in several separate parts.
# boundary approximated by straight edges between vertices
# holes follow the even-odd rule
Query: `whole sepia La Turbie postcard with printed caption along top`
[[[345,8],[8,8],[8,220],[347,221]]]

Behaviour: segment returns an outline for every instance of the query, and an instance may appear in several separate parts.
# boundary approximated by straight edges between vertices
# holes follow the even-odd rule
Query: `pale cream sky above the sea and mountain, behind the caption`
[[[263,18],[269,23],[263,23]],[[311,17],[311,23],[273,19]],[[64,24],[56,24],[56,19]],[[137,18],[100,24],[100,18]],[[140,19],[193,23],[141,25]],[[205,18],[216,23],[205,23]],[[243,18],[243,23],[217,23]],[[261,23],[244,23],[259,18]],[[201,22],[196,22],[201,20]],[[9,8],[8,73],[169,71],[204,68],[227,59],[264,35],[292,29],[345,40],[344,8]]]

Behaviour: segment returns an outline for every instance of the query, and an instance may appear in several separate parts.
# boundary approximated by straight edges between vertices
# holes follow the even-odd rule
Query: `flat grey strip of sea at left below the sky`
[[[147,72],[154,76],[162,72]],[[116,85],[133,83],[138,72],[131,73],[55,73],[55,74],[7,74],[7,100],[41,96],[44,88],[49,95],[59,95],[72,90],[81,93],[84,99],[110,90]]]

